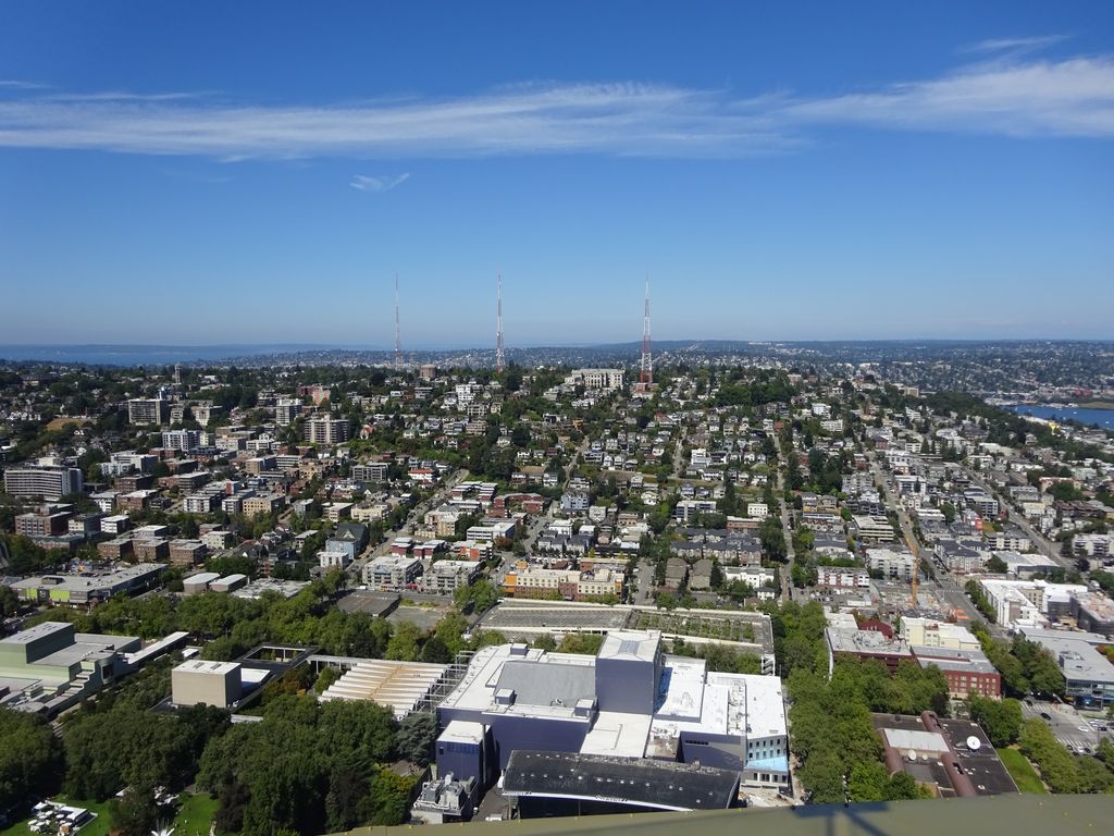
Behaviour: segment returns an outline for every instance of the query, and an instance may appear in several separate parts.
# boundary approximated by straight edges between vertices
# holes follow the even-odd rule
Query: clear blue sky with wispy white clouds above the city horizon
[[[0,343],[1114,338],[1114,4],[0,4]]]

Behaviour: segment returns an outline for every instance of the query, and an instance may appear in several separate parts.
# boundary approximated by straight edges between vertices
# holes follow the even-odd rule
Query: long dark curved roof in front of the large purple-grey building
[[[507,762],[504,793],[668,810],[725,809],[737,797],[739,774],[658,760],[518,749]]]

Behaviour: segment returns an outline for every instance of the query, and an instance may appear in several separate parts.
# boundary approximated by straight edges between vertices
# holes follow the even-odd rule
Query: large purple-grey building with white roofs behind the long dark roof
[[[531,750],[698,761],[790,790],[781,680],[664,654],[656,631],[612,632],[596,657],[483,648],[438,711],[439,772],[481,785]]]

